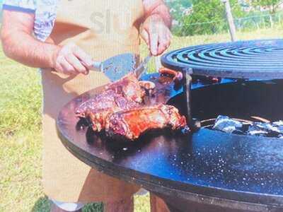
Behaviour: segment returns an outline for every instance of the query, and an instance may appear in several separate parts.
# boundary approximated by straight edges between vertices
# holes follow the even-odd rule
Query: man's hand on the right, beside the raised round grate
[[[152,55],[162,54],[171,43],[171,31],[158,15],[149,16],[144,22],[141,37],[148,45]]]

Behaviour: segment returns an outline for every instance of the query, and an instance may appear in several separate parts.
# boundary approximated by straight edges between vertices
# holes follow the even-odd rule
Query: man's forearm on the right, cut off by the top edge
[[[144,0],[145,18],[159,16],[171,28],[172,19],[168,7],[163,0]]]

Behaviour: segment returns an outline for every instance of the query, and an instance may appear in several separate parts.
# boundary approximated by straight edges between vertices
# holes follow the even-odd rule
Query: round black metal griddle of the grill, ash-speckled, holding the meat
[[[146,79],[156,81],[154,78],[147,76]],[[184,98],[178,95],[182,89],[169,87],[162,88],[161,102],[177,95],[168,103],[184,110]],[[226,108],[217,106],[221,102],[227,105],[224,114],[231,113],[231,117],[262,114],[265,118],[281,119],[282,88],[280,82],[226,83],[196,88],[192,90],[192,114],[199,119],[214,117]],[[74,107],[99,91],[76,98],[63,108],[57,119],[62,142],[84,163],[169,199],[210,204],[211,208],[282,210],[282,140],[200,129],[187,136],[155,131],[133,143],[108,141],[84,128],[82,123],[78,124],[74,117]],[[273,104],[272,99],[280,101]],[[229,105],[233,106],[231,110]]]

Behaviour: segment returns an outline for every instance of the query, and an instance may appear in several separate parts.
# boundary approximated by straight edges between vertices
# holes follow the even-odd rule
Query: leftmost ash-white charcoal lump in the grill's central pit
[[[234,131],[241,131],[242,127],[243,124],[241,122],[238,122],[226,116],[219,116],[215,121],[213,129],[217,129],[227,133],[233,133]]]

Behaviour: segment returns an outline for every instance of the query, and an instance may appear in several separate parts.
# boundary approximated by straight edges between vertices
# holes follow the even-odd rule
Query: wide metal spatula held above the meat
[[[110,81],[114,82],[136,69],[138,64],[139,55],[131,53],[118,54],[103,62],[93,62],[90,70],[103,72]]]

